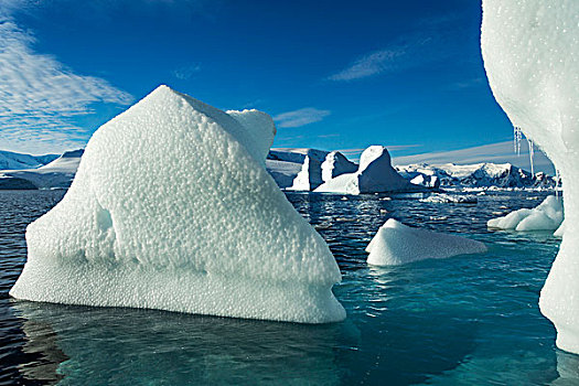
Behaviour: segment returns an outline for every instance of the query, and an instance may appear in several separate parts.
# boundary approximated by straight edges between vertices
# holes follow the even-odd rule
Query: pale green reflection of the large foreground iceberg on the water
[[[333,347],[352,339],[343,324],[25,301],[14,301],[13,308],[26,320],[23,350],[46,361],[20,366],[23,377],[64,385],[335,385],[341,373]]]

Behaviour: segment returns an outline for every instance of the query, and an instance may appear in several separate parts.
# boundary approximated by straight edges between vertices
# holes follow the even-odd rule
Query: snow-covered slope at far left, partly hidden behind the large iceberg
[[[66,189],[71,186],[84,150],[67,151],[37,169],[0,171],[0,189],[10,189],[13,181],[25,181],[26,189]]]

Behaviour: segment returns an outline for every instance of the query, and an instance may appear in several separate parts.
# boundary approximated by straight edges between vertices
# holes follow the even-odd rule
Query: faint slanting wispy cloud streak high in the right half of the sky
[[[418,22],[416,26],[418,32],[407,33],[382,50],[362,55],[350,66],[330,75],[326,79],[350,82],[395,73],[444,58],[452,51],[446,44],[450,41],[449,29],[446,26],[454,19],[455,15],[446,15]]]

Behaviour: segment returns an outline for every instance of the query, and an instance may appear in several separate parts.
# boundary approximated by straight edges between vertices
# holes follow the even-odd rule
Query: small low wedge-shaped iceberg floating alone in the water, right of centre
[[[366,247],[367,262],[374,266],[397,266],[429,258],[442,259],[457,255],[486,251],[483,243],[412,228],[389,218]]]

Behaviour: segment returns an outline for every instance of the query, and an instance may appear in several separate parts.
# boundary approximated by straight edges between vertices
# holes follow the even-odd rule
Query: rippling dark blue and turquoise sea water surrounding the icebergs
[[[485,227],[493,212],[535,206],[544,194],[461,205],[288,193],[343,274],[334,293],[347,319],[326,325],[10,299],[25,226],[63,194],[0,192],[1,385],[579,384],[578,357],[555,347],[537,305],[559,240]],[[489,251],[368,267],[364,248],[389,217],[483,240]]]

